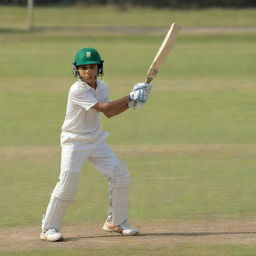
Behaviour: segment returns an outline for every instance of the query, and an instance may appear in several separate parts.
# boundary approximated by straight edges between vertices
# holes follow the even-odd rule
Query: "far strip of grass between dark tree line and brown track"
[[[0,27],[25,29],[27,10],[21,7],[0,9]],[[152,19],[154,22],[152,22]],[[129,8],[120,11],[108,6],[35,7],[34,25],[37,27],[105,27],[145,26],[166,27],[171,21],[182,26],[242,27],[255,26],[255,9],[173,10]]]

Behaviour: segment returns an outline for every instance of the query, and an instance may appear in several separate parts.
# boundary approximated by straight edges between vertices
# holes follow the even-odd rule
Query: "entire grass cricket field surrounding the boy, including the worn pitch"
[[[1,28],[23,27],[24,9],[3,10],[6,16]],[[59,15],[66,11],[58,9]],[[197,21],[206,20],[205,15],[209,17],[205,25],[213,25],[218,11],[191,11],[193,25],[200,25]],[[39,18],[53,17],[54,12],[56,8],[39,9],[36,25],[56,25],[56,20],[44,19],[49,22],[45,23]],[[114,10],[106,12],[113,15]],[[125,19],[133,20],[136,12],[125,13]],[[165,12],[162,19],[157,16],[160,10],[145,10],[141,25],[150,25],[143,17],[152,13],[158,17],[157,25],[165,25],[165,19],[170,19],[167,11],[161,13]],[[255,25],[251,10],[228,10],[226,14],[231,12],[233,18],[236,12],[244,17],[235,20],[237,25]],[[175,15],[183,17],[178,11]],[[18,26],[12,25],[14,17]],[[229,15],[225,17],[225,25],[231,25]],[[120,25],[126,25],[125,19]],[[189,15],[184,18],[184,24],[190,19]],[[60,21],[73,26],[71,20]],[[112,22],[108,24],[113,26]],[[255,34],[182,34],[153,83],[148,104],[113,119],[102,117],[102,126],[110,131],[109,144],[128,163],[133,178],[129,216],[141,228],[138,240],[104,238],[103,233],[93,237],[91,231],[88,239],[81,234],[80,240],[63,244],[37,242],[41,216],[59,172],[59,133],[74,81],[71,62],[75,52],[84,46],[100,50],[105,60],[104,80],[111,98],[116,99],[126,95],[134,82],[145,79],[162,37],[0,34],[0,255],[255,254]],[[86,164],[64,227],[100,225],[107,196],[104,178]],[[28,228],[36,237],[31,243],[27,238],[26,248],[15,247]],[[8,232],[16,235],[12,245],[11,239],[4,240]]]

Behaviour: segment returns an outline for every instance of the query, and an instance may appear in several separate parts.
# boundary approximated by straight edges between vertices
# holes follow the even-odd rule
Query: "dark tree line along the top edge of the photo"
[[[27,5],[27,0],[0,0],[2,5]],[[74,5],[74,4],[113,4],[117,6],[151,6],[170,7],[177,9],[185,8],[248,8],[256,7],[256,0],[34,0],[36,6],[47,5]]]

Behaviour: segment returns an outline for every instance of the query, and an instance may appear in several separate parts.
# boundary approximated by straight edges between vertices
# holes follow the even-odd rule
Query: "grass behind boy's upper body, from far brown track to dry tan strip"
[[[0,49],[0,113],[8,123],[1,124],[2,145],[56,145],[77,49],[100,49],[104,80],[116,99],[145,79],[161,39],[6,34]],[[154,81],[150,104],[142,109],[144,119],[140,111],[129,111],[114,122],[102,119],[114,134],[110,142],[254,143],[255,40],[256,36],[181,36]],[[7,113],[4,108],[10,102]],[[145,122],[151,129],[144,129]]]

